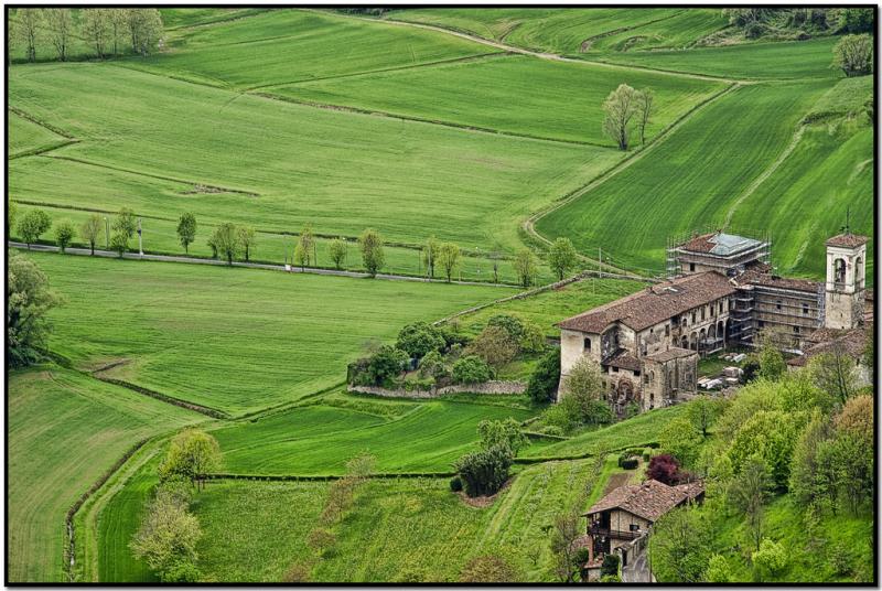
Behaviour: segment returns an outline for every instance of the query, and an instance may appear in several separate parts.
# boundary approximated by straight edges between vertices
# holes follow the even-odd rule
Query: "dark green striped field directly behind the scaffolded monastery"
[[[584,252],[603,247],[614,261],[656,272],[664,269],[666,239],[678,232],[722,226],[729,212],[733,232],[738,232],[735,219],[746,221],[747,228],[766,227],[776,221],[755,216],[742,197],[774,166],[803,116],[830,86],[825,82],[742,86],[696,112],[620,173],[541,217],[536,227],[551,238],[570,237]],[[840,224],[828,218],[827,211],[821,203],[804,202],[799,212],[789,211],[778,219],[786,224],[803,217],[822,219],[810,236],[822,243],[830,226]],[[789,232],[776,235],[776,247],[786,254],[788,245],[805,238]],[[786,258],[778,264],[793,265]]]

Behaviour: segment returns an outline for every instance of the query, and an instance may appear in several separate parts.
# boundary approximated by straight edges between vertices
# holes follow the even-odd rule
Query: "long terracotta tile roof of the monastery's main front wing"
[[[561,329],[599,334],[613,322],[642,331],[692,308],[731,296],[735,287],[722,273],[704,271],[665,281],[558,324]]]

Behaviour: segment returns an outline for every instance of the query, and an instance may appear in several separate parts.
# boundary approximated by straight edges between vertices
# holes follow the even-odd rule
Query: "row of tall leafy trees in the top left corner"
[[[37,58],[37,49],[49,43],[55,58],[66,62],[72,45],[83,40],[104,60],[131,52],[148,55],[162,45],[162,15],[148,8],[20,8],[7,20],[7,51],[23,50],[29,62]]]

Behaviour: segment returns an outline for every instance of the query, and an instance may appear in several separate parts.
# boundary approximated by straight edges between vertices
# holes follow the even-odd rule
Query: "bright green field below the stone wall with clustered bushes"
[[[367,405],[396,405],[399,415],[378,415],[383,408]],[[357,410],[320,401],[213,434],[224,452],[224,471],[238,474],[341,474],[345,463],[362,451],[376,456],[379,472],[452,472],[453,462],[475,449],[480,421],[524,420],[535,413],[444,400],[377,400]]]

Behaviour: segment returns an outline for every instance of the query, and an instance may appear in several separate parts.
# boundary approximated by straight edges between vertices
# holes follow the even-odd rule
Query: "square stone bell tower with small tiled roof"
[[[824,326],[853,329],[863,324],[867,282],[867,236],[846,234],[827,240]]]

